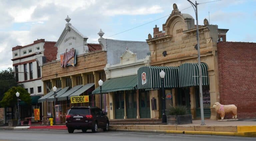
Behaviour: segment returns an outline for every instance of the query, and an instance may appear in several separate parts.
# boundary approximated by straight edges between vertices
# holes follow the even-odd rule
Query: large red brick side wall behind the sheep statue
[[[235,104],[237,118],[256,117],[256,43],[219,42],[217,49],[220,103]]]

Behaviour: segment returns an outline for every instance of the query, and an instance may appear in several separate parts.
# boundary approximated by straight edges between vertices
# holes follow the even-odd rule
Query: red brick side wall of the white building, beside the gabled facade
[[[44,56],[46,57],[46,62],[51,62],[57,59],[57,47],[54,47],[56,42],[45,41],[44,44]]]

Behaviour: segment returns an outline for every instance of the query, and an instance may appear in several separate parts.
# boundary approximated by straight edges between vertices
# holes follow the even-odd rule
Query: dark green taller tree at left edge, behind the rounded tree
[[[0,71],[0,100],[4,93],[13,86],[18,86],[16,83],[12,68]]]

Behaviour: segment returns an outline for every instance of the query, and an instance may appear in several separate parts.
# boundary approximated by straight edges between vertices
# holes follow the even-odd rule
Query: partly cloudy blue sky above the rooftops
[[[227,41],[256,42],[256,0],[210,1],[215,0],[197,0],[199,25],[207,18],[209,24],[229,29]],[[187,0],[0,0],[0,70],[12,68],[13,47],[37,39],[56,42],[67,15],[88,43],[98,43],[100,29],[103,38],[145,41],[155,25],[162,30],[173,3],[196,19]]]

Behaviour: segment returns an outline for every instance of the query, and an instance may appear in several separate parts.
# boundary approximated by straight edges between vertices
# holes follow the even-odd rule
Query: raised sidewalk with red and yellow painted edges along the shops
[[[201,120],[193,120],[192,124],[184,125],[110,125],[110,131],[121,132],[145,132],[164,134],[192,134],[192,135],[216,135],[216,136],[240,136],[256,137],[256,119],[250,121],[217,121],[205,120],[206,125],[201,125]],[[67,130],[65,125],[54,126],[17,126],[0,127],[0,130]]]

